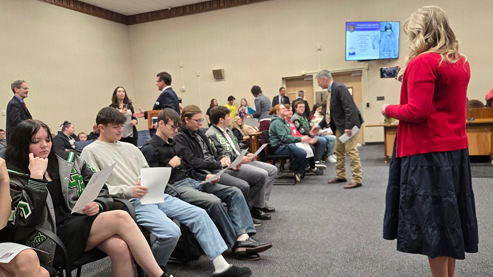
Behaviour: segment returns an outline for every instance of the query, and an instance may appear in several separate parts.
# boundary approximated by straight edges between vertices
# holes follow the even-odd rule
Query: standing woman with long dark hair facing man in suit
[[[111,96],[110,107],[114,107],[120,110],[125,118],[125,124],[123,124],[123,133],[120,141],[129,142],[137,146],[137,139],[139,133],[137,132],[137,117],[134,116],[134,106],[132,101],[127,96],[127,91],[124,87],[116,87]]]

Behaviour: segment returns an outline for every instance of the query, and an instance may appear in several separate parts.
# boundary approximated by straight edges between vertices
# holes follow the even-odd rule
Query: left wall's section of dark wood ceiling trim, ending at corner
[[[57,5],[74,11],[82,12],[88,15],[92,15],[106,20],[128,25],[127,23],[128,16],[104,8],[100,8],[98,6],[91,5],[82,1],[78,1],[78,0],[38,0],[38,1]]]

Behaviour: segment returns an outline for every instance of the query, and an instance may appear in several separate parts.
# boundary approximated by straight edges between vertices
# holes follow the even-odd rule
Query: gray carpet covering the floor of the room
[[[296,186],[275,186],[270,205],[273,219],[257,227],[255,239],[274,247],[261,253],[259,261],[226,259],[250,267],[256,277],[416,277],[431,276],[423,255],[395,250],[395,241],[382,239],[388,167],[383,145],[360,147],[363,186],[343,189],[327,184],[334,164],[323,175],[307,175]],[[349,169],[349,162],[348,167]],[[491,169],[490,169],[491,171]],[[349,176],[349,175],[348,175]],[[479,252],[458,261],[457,277],[493,276],[492,179],[473,178],[479,224]],[[206,257],[187,265],[168,265],[181,277],[210,276]],[[109,260],[85,266],[82,276],[109,277]]]

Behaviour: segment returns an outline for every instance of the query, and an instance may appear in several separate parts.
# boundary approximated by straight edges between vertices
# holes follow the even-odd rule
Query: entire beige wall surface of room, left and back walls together
[[[54,129],[69,119],[77,131],[89,131],[95,113],[109,104],[117,85],[126,87],[136,106],[150,109],[159,95],[155,75],[165,70],[173,75],[172,85],[184,104],[200,104],[205,110],[211,98],[224,104],[234,95],[237,103],[245,97],[253,105],[252,85],[272,98],[283,77],[317,72],[318,44],[323,69],[365,66],[345,61],[346,21],[392,20],[402,26],[413,11],[429,4],[424,0],[381,3],[271,0],[124,26],[35,0],[0,0],[0,104],[4,109],[12,97],[10,82],[25,78],[31,88],[27,103],[36,118]],[[489,51],[493,3],[436,0],[434,4],[448,12],[460,50],[471,63],[469,98],[484,99],[493,86]],[[369,69],[363,70],[363,106],[370,102],[362,110],[367,123],[382,121],[382,104],[398,103],[400,84],[380,79],[379,68],[404,64],[408,43],[402,32],[400,41],[399,60],[368,62]],[[212,69],[224,69],[226,77],[214,80]],[[182,84],[185,92],[180,91]],[[386,100],[377,102],[376,96]],[[143,121],[138,126],[146,128]],[[383,130],[368,128],[365,138],[382,141]]]

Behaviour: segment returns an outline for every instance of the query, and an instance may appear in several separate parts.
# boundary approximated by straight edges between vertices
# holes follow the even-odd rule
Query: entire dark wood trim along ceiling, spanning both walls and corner
[[[156,20],[169,19],[173,17],[191,15],[201,12],[208,12],[224,8],[231,8],[241,5],[247,5],[268,0],[210,0],[184,6],[178,6],[171,9],[156,10],[134,15],[123,15],[114,11],[100,8],[79,0],[38,0],[41,2],[68,8],[74,11],[82,12],[88,15],[96,16],[113,22],[133,25]]]

